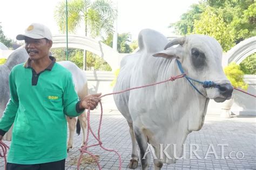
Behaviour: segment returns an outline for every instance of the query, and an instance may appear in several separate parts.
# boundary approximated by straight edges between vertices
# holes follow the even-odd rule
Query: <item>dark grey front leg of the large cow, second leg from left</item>
[[[133,129],[134,129],[135,138],[139,145],[140,162],[142,164],[142,169],[146,170],[149,167],[149,162],[150,162],[150,154],[145,155],[145,153],[147,152],[147,146],[148,146],[147,137],[141,129],[137,127],[133,127]]]

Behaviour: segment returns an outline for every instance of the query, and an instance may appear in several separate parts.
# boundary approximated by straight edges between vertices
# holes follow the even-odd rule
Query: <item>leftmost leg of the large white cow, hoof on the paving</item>
[[[128,125],[130,127],[130,135],[131,135],[131,139],[132,139],[132,155],[131,155],[131,160],[129,163],[129,168],[137,168],[138,167],[138,151],[137,151],[137,142],[136,142],[136,138],[134,136],[134,132],[133,132],[133,126],[132,123],[128,122]]]

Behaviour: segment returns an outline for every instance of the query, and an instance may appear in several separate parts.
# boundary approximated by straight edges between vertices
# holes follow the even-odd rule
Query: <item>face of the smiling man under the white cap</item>
[[[49,56],[49,50],[52,46],[52,41],[43,39],[25,38],[26,52],[29,54],[30,60],[40,60]]]

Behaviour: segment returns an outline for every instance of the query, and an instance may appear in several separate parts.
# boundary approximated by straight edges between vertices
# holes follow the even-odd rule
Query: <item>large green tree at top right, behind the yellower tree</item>
[[[213,8],[215,15],[223,18],[228,32],[234,35],[235,44],[256,35],[256,2],[254,0],[204,0],[199,4],[193,4],[191,10],[181,15],[180,20],[170,24],[170,27],[174,27],[181,35],[194,32],[195,21],[203,18],[201,15],[209,7]]]

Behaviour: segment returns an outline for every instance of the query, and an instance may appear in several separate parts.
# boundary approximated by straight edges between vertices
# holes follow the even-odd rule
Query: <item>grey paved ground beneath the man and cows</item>
[[[93,111],[91,125],[95,132],[97,131],[98,120],[99,112]],[[122,169],[129,169],[127,165],[130,161],[131,139],[124,117],[116,110],[105,111],[100,134],[104,147],[115,149],[122,155]],[[186,140],[186,157],[190,155],[191,146],[188,148],[189,144],[194,144],[198,147],[198,157],[202,159],[198,159],[193,154],[192,158],[180,159],[176,164],[164,165],[162,169],[256,169],[255,134],[255,117],[234,116],[230,119],[224,119],[218,115],[206,115],[203,128],[198,132],[190,133]],[[80,154],[78,148],[81,141],[81,136],[76,135],[73,148],[66,160],[66,169],[76,169]],[[95,142],[90,138],[90,144]],[[9,143],[7,144],[9,145]],[[223,157],[226,159],[221,158],[221,146],[218,144],[228,145],[224,146]],[[192,148],[193,151],[196,150],[195,147]],[[114,153],[106,152],[99,146],[90,148],[89,151],[99,155],[100,165],[103,169],[118,169],[118,157]],[[238,153],[238,158],[228,158],[230,153],[232,158],[235,158],[235,154]],[[90,159],[86,161],[91,162]],[[3,159],[0,159],[0,169],[4,169],[3,164]],[[80,169],[98,169],[98,167],[95,164],[82,164]],[[150,169],[153,169],[152,158]]]

